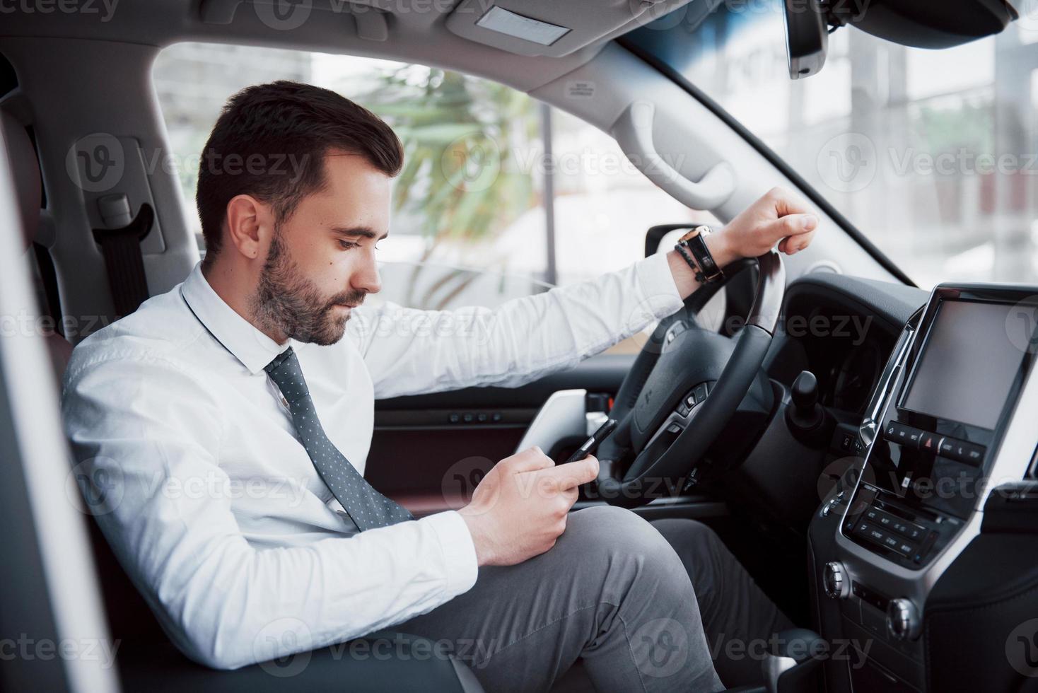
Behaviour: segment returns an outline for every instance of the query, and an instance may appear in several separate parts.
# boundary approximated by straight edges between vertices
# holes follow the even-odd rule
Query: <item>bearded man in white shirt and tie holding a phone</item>
[[[248,165],[220,168],[230,155]],[[263,165],[286,156],[298,175]],[[672,251],[493,311],[362,306],[381,288],[402,158],[384,122],[331,91],[276,82],[229,100],[199,167],[204,261],[84,340],[65,375],[66,428],[120,562],[174,643],[212,667],[393,626],[474,642],[460,654],[488,690],[546,689],[578,658],[600,691],[720,689],[689,575],[730,634],[788,621],[694,523],[568,516],[594,458],[555,467],[523,450],[469,505],[417,521],[362,479],[376,397],[519,385],[698,287]],[[707,244],[723,266],[796,252],[816,225],[776,190]],[[415,334],[415,317],[488,333]],[[677,649],[665,671],[651,652],[662,640]]]

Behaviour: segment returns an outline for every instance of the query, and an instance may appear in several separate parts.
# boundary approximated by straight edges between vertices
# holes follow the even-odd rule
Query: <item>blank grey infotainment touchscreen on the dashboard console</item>
[[[992,429],[1026,353],[1009,339],[1012,304],[943,300],[902,408]]]

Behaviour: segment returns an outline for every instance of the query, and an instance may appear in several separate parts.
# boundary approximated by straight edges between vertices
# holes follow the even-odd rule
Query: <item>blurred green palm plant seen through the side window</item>
[[[532,175],[515,155],[540,136],[536,102],[495,82],[410,65],[386,70],[359,101],[404,142],[393,206],[420,219],[427,239],[408,287],[408,305],[417,305],[418,276],[441,244],[487,244],[538,203]],[[422,307],[447,305],[476,276],[444,274]]]

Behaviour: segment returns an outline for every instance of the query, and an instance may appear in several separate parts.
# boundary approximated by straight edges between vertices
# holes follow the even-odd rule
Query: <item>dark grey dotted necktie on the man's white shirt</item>
[[[303,441],[307,454],[321,478],[343,504],[357,529],[394,525],[414,517],[398,503],[376,491],[328,440],[318,419],[310,391],[299,367],[299,359],[290,346],[268,363],[264,370],[281,390],[292,412],[292,422]]]

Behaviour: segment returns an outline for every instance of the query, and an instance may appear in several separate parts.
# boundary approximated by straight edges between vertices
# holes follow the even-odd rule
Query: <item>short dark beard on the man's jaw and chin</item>
[[[343,338],[350,320],[349,313],[336,315],[335,307],[358,305],[366,294],[348,290],[324,297],[313,282],[303,276],[281,242],[280,228],[275,228],[250,307],[265,332],[273,331],[299,342],[327,346]]]

